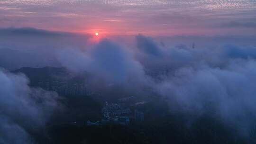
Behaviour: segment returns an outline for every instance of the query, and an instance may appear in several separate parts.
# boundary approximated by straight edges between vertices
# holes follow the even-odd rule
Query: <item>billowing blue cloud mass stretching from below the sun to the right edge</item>
[[[169,99],[171,111],[208,113],[241,134],[251,130],[256,120],[255,46],[164,48],[142,35],[136,41],[136,53],[103,40],[86,52],[69,49],[59,60],[68,69],[110,83],[144,86]],[[75,56],[68,58],[69,54]]]

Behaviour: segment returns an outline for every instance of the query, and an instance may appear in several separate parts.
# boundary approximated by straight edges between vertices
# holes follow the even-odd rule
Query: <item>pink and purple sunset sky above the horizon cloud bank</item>
[[[0,0],[0,28],[84,34],[253,36],[256,0]]]

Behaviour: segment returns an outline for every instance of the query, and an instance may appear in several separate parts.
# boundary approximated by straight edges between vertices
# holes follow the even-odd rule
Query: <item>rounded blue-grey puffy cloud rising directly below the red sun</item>
[[[128,49],[107,39],[86,52],[64,49],[57,55],[62,65],[71,71],[89,72],[109,83],[137,81],[144,75],[142,65]]]

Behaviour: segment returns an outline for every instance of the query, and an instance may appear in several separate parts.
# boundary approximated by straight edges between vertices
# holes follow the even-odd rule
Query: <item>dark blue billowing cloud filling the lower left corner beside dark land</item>
[[[0,143],[34,144],[30,132],[44,128],[56,108],[55,92],[33,89],[23,74],[0,70]]]

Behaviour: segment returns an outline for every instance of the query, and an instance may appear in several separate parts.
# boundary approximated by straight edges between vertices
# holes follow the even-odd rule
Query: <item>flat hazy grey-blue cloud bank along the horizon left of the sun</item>
[[[0,29],[0,67],[60,67],[55,52],[66,47],[87,45],[90,36],[35,28]]]

